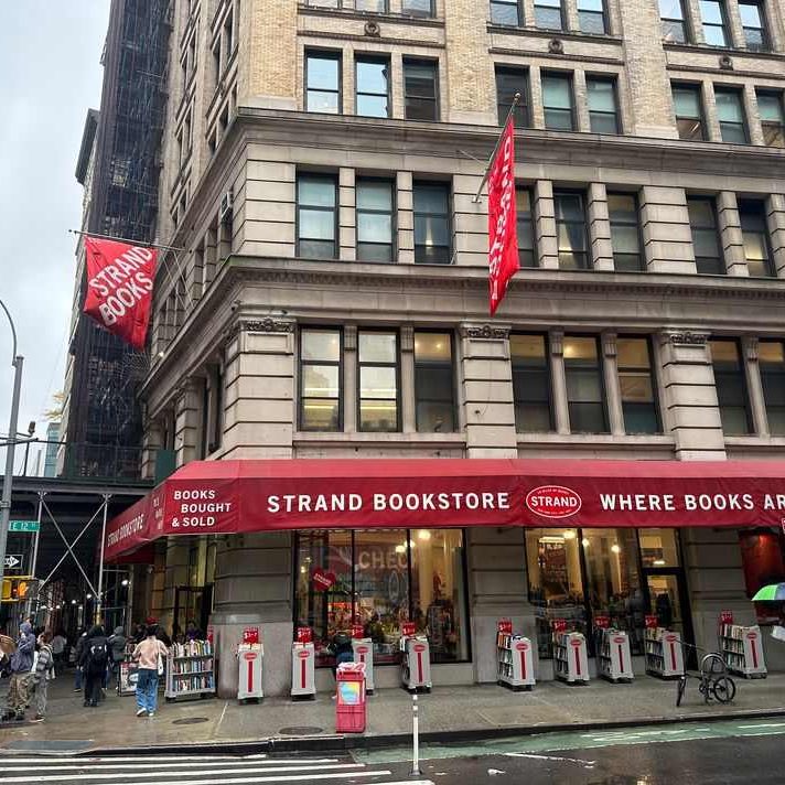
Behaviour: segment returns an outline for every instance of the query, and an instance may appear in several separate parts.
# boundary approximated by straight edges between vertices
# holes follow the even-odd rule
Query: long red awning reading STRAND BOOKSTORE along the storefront
[[[193,461],[109,523],[106,558],[166,535],[783,519],[783,461]]]

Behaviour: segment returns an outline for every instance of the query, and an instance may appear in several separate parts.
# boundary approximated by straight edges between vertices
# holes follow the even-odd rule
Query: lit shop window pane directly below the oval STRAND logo
[[[535,606],[540,657],[551,657],[551,623],[567,620],[568,631],[587,633],[577,529],[527,529],[529,602]]]

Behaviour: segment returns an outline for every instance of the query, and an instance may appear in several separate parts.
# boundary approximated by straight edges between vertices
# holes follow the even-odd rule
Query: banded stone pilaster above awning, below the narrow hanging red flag
[[[509,327],[461,325],[467,458],[517,458]]]

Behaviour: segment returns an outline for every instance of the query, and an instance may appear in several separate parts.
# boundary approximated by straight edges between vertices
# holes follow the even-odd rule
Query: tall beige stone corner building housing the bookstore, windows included
[[[159,237],[182,250],[157,281],[148,473],[159,449],[783,460],[781,2],[174,6]],[[516,93],[521,270],[490,320],[481,186]],[[275,692],[300,625],[321,650],[354,616],[381,664],[410,617],[455,684],[496,679],[510,617],[548,678],[555,619],[610,616],[642,668],[645,614],[711,648],[721,610],[753,623],[751,587],[785,577],[772,528],[541,521],[170,537],[150,602],[209,617],[227,654],[260,622]]]

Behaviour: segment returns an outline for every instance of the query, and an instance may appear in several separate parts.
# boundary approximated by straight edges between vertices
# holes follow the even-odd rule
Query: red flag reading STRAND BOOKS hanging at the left
[[[85,313],[133,348],[143,350],[158,251],[85,237]]]

